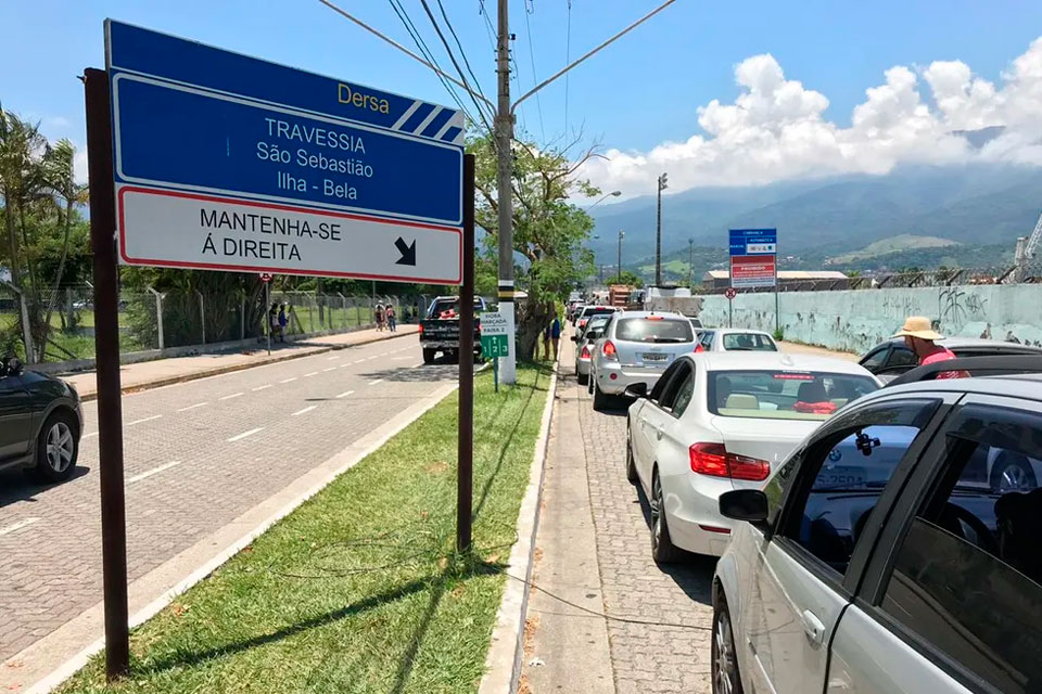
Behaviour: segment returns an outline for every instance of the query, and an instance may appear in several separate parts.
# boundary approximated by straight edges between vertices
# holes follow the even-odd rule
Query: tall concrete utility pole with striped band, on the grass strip
[[[496,150],[499,191],[499,312],[507,320],[507,357],[499,364],[499,380],[518,381],[517,321],[513,305],[513,112],[510,108],[510,14],[507,0],[499,0],[499,38],[496,46],[499,100],[496,111]]]

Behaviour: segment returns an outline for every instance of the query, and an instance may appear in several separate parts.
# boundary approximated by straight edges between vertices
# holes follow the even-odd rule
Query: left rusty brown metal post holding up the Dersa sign
[[[94,349],[98,370],[98,450],[101,470],[101,557],[105,601],[105,677],[130,667],[127,614],[127,514],[123,483],[123,404],[119,401],[119,273],[116,193],[112,165],[109,75],[85,72],[90,245],[94,254]]]

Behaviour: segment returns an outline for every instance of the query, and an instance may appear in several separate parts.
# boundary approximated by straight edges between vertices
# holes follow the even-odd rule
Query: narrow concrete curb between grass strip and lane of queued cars
[[[539,506],[543,503],[543,480],[546,475],[546,457],[550,441],[550,421],[554,401],[557,399],[557,374],[560,359],[554,362],[554,373],[547,389],[546,406],[535,454],[529,472],[529,486],[518,511],[518,542],[510,551],[508,566],[514,575],[524,576],[526,583],[506,578],[503,600],[496,613],[496,626],[492,631],[488,654],[485,656],[485,673],[481,678],[478,694],[513,694],[521,678],[524,655],[524,621],[529,612],[529,583],[535,557],[535,536],[539,529]]]

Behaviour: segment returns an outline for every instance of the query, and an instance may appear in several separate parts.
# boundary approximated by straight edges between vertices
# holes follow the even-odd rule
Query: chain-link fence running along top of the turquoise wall
[[[946,268],[911,272],[873,272],[847,278],[778,279],[782,292],[841,292],[847,290],[911,288],[923,286],[955,286],[961,284],[1039,284],[1042,283],[1042,260],[1019,266],[992,268]],[[702,294],[723,294],[727,279],[704,282]],[[773,286],[741,290],[742,292],[774,292]]]

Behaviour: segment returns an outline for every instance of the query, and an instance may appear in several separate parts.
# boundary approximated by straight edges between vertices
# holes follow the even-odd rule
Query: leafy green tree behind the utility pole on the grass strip
[[[594,270],[593,253],[583,247],[594,220],[570,200],[600,193],[576,177],[580,167],[597,154],[590,147],[573,160],[568,152],[575,144],[557,150],[518,141],[513,147],[516,281],[528,293],[517,306],[517,347],[523,359],[532,357],[555,306]],[[467,150],[476,158],[475,220],[486,232],[475,268],[476,284],[484,291],[495,287],[499,243],[495,142],[485,134],[471,140]]]

